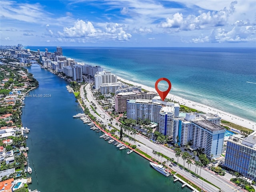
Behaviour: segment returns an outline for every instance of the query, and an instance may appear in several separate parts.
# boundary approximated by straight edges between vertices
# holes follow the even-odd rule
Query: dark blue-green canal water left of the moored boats
[[[33,172],[30,189],[41,192],[190,192],[149,166],[136,153],[126,154],[99,138],[73,115],[82,112],[67,82],[40,68],[28,67],[39,82],[25,98],[23,126]]]

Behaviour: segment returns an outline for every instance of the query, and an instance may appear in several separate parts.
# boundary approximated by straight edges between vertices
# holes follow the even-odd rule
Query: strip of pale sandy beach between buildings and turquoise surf
[[[152,87],[149,87],[149,86],[146,86],[146,85],[142,85],[142,84],[139,84],[139,83],[136,83],[136,82],[132,82],[132,81],[126,80],[124,78],[121,78],[119,76],[118,76],[118,79],[120,79],[123,82],[129,83],[129,84],[133,84],[133,85],[136,85],[136,86],[141,86],[145,90],[156,92],[155,88],[152,88]],[[241,118],[239,116],[236,116],[236,115],[224,112],[222,110],[218,110],[218,109],[206,106],[204,104],[200,104],[200,103],[197,103],[197,102],[194,102],[194,101],[190,101],[190,100],[181,98],[179,96],[175,96],[173,94],[168,94],[168,96],[166,98],[172,99],[172,100],[178,102],[179,104],[183,104],[185,106],[188,106],[190,108],[194,108],[196,110],[199,110],[199,111],[202,111],[202,112],[205,112],[205,113],[218,114],[223,120],[227,120],[229,122],[238,124],[240,126],[244,126],[246,128],[252,129],[252,130],[256,130],[256,122],[252,122],[250,120]]]

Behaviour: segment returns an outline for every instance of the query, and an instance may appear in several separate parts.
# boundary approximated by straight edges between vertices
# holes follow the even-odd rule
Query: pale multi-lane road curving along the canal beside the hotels
[[[107,112],[105,112],[102,109],[102,107],[98,104],[98,102],[95,100],[94,96],[92,95],[92,91],[90,90],[90,84],[87,84],[85,86],[85,89],[86,89],[86,92],[87,92],[87,98],[88,98],[89,102],[84,98],[84,86],[81,86],[80,95],[81,95],[82,98],[84,98],[84,103],[89,108],[90,112],[92,114],[94,114],[94,116],[96,116],[96,118],[99,121],[102,121],[103,124],[105,124],[108,127],[108,124],[110,124],[110,121],[109,121],[109,118],[111,118],[110,115]],[[90,105],[91,105],[90,102],[91,101],[94,102],[94,104],[96,104],[96,107],[97,107],[96,111],[98,112],[98,114],[100,114],[100,116],[95,114],[95,112],[90,108]],[[115,126],[116,122],[118,122],[118,121],[113,120],[112,125]],[[120,123],[118,122],[118,124],[120,124]],[[120,130],[120,126],[118,126],[117,128]],[[140,134],[138,134],[138,135],[136,134],[136,140],[138,140],[138,142],[136,142],[137,147],[140,150],[142,150],[143,152],[146,152],[147,154],[149,154],[150,156],[154,157],[154,155],[152,154],[152,150],[155,150],[157,152],[160,152],[160,153],[168,156],[169,158],[174,158],[174,160],[176,162],[178,161],[178,159],[175,157],[175,152],[173,150],[171,150],[171,149],[169,149],[165,146],[150,142],[150,140],[148,138],[146,138],[146,137],[144,137],[143,135],[140,135]],[[139,144],[140,144],[140,146],[138,146]],[[166,161],[166,160],[163,158],[162,161]],[[179,163],[183,164],[182,158],[179,158]],[[187,167],[186,163],[185,163],[185,166]],[[194,175],[190,174],[189,172],[186,172],[186,170],[181,169],[178,166],[172,167],[172,169],[174,171],[178,172],[180,175],[183,175],[187,179],[191,180],[197,186],[202,187],[202,185],[203,185],[203,188],[205,190],[207,190],[208,192],[217,192],[218,191],[218,188],[204,182],[203,180],[195,177]],[[191,164],[191,170],[194,171],[195,169],[196,169],[196,166]],[[199,172],[200,172],[200,168],[198,170],[198,174],[199,174]],[[244,191],[242,189],[238,189],[238,187],[234,186],[230,181],[226,180],[222,176],[215,175],[214,173],[210,172],[207,169],[204,169],[204,168],[201,169],[201,176],[204,178],[204,180],[208,180],[212,184],[220,187],[223,192],[234,192],[234,191],[243,192]]]

